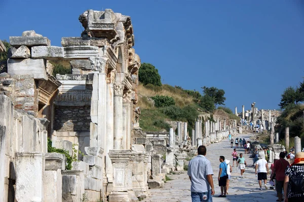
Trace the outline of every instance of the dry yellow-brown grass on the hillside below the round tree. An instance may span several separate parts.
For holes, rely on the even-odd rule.
[[[172,97],[175,101],[175,105],[179,107],[184,107],[186,105],[191,105],[194,103],[191,96],[169,85],[146,88],[142,84],[139,84],[138,94],[138,106],[140,106],[142,109],[150,109],[151,106],[149,105],[149,102],[147,102],[146,97],[153,97],[156,95]]]

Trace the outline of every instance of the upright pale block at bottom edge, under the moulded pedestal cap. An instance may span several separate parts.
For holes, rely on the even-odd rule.
[[[61,170],[45,171],[44,173],[44,201],[62,201]]]

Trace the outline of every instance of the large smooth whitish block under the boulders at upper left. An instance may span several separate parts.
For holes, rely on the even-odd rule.
[[[8,59],[8,73],[11,75],[31,74],[35,79],[48,79],[44,59]]]

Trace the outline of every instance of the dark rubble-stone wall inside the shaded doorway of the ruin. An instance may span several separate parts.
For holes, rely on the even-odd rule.
[[[90,106],[56,106],[56,131],[90,131]]]

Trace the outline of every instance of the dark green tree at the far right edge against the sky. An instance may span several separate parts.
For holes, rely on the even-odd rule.
[[[299,90],[293,87],[288,87],[282,94],[281,102],[279,106],[281,109],[285,109],[287,106],[296,105],[299,101]]]

